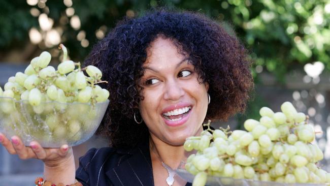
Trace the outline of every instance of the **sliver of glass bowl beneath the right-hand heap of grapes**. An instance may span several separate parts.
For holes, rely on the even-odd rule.
[[[194,175],[190,174],[185,169],[177,169],[175,172],[184,180],[192,183]],[[280,183],[274,181],[258,181],[252,179],[234,179],[231,177],[209,176],[206,185],[208,186],[325,186],[328,184],[316,183]]]

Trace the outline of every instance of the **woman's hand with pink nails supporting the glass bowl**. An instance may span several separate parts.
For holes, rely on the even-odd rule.
[[[9,140],[2,133],[0,133],[0,143],[10,154],[17,154],[22,160],[31,158],[42,160],[48,167],[59,166],[73,155],[72,148],[68,145],[62,145],[60,148],[43,148],[38,142],[32,141],[30,147],[27,147],[18,136],[13,136]]]

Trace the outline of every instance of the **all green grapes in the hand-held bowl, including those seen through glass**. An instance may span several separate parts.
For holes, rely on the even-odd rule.
[[[62,44],[60,48],[64,52],[63,61],[57,70],[48,66],[51,54],[44,51],[31,60],[24,73],[17,72],[10,77],[4,90],[0,87],[3,130],[39,135],[37,140],[49,137],[77,140],[83,136],[81,129],[90,129],[87,123],[98,112],[95,105],[109,98],[109,91],[98,85],[106,81],[101,80],[100,69],[94,66],[81,68],[80,63],[67,60],[67,49]],[[32,128],[28,127],[31,123],[34,123]],[[46,125],[37,126],[40,123]]]

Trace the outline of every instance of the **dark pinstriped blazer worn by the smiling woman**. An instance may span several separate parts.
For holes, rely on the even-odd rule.
[[[154,185],[148,144],[146,141],[129,150],[92,148],[79,159],[76,179],[84,186]]]

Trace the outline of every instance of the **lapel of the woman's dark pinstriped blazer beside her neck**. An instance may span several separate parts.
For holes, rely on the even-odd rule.
[[[118,167],[106,172],[115,186],[154,185],[150,159],[149,142],[138,145]],[[140,184],[137,184],[140,183]]]

